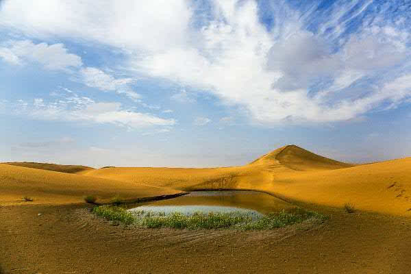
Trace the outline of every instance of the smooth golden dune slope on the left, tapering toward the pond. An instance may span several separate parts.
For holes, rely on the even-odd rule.
[[[29,169],[0,164],[0,204],[84,203],[84,196],[96,195],[106,201],[119,195],[121,199],[171,195],[170,188],[136,185],[110,179],[86,177],[55,171]],[[24,202],[23,197],[34,199]]]

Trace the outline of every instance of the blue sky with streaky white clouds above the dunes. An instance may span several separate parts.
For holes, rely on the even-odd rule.
[[[0,162],[411,156],[411,2],[0,0]]]

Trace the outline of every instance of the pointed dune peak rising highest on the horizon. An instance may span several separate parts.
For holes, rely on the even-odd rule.
[[[344,169],[353,166],[344,162],[338,162],[320,155],[316,155],[306,149],[296,145],[287,145],[275,149],[270,153],[263,155],[251,164],[269,164],[277,162],[289,169],[296,171],[309,171],[315,169]]]

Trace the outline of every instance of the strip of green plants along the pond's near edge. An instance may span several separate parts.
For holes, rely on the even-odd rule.
[[[275,229],[285,227],[295,223],[301,223],[308,219],[323,221],[325,216],[309,212],[306,210],[295,210],[294,212],[279,212],[258,219],[253,219],[250,214],[242,212],[210,212],[204,214],[195,212],[191,215],[185,215],[179,212],[165,214],[164,212],[128,212],[125,208],[119,206],[99,206],[92,210],[98,216],[109,221],[121,222],[125,225],[135,224],[138,227],[159,228],[171,227],[177,229]]]

